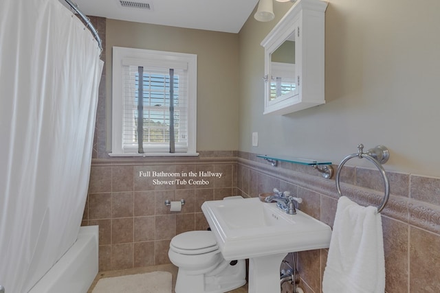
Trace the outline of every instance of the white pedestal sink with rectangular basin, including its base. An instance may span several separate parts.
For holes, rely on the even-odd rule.
[[[331,228],[299,211],[288,215],[259,198],[211,200],[201,206],[226,260],[249,259],[249,293],[280,292],[287,253],[328,248]]]

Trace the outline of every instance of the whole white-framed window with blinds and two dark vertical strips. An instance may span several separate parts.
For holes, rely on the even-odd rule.
[[[111,156],[197,155],[197,56],[113,47]]]

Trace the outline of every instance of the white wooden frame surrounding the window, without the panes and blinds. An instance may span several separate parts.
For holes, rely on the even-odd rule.
[[[186,152],[165,152],[146,150],[143,154],[124,151],[122,143],[123,126],[123,74],[124,62],[135,61],[139,65],[157,65],[172,68],[184,64],[188,68],[188,149]],[[113,47],[113,82],[112,82],[112,118],[111,118],[111,153],[110,156],[197,156],[197,55],[127,47]]]

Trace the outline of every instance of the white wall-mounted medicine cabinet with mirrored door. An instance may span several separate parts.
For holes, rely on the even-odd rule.
[[[327,2],[298,0],[265,37],[263,114],[285,115],[325,104]]]

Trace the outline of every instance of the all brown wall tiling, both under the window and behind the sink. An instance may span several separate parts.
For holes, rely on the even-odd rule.
[[[337,167],[337,166],[333,166]],[[199,174],[221,172],[208,185],[155,185],[146,172]],[[386,292],[440,292],[440,178],[387,172],[391,198],[382,211],[386,257]],[[178,177],[157,177],[169,180]],[[360,204],[382,200],[382,179],[375,169],[344,167],[342,192]],[[311,167],[269,163],[245,152],[202,152],[192,159],[141,161],[94,159],[83,224],[100,226],[100,270],[169,263],[170,239],[204,230],[205,200],[241,194],[255,197],[274,187],[303,198],[300,209],[333,225],[337,192],[333,179]],[[186,203],[170,212],[164,200]],[[292,256],[290,256],[292,257]],[[296,255],[305,292],[321,292],[327,250]],[[283,291],[284,292],[284,291]]]

